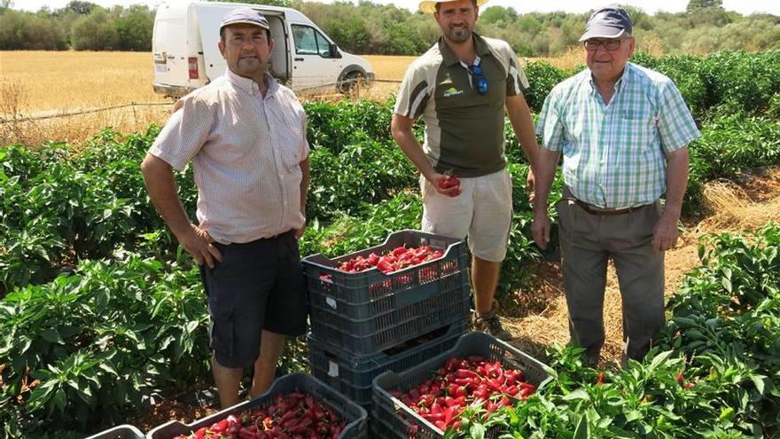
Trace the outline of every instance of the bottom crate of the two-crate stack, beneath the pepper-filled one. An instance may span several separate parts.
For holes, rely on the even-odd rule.
[[[371,404],[372,382],[386,371],[402,372],[455,346],[465,333],[465,322],[442,327],[405,344],[370,356],[353,356],[335,349],[316,337],[308,337],[308,357],[312,374],[363,407]],[[404,349],[405,348],[405,349]]]

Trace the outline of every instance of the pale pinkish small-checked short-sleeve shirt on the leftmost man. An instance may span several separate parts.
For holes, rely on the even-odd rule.
[[[300,162],[306,116],[292,90],[228,69],[183,98],[149,150],[175,169],[189,161],[198,185],[199,226],[223,244],[269,238],[305,223]]]

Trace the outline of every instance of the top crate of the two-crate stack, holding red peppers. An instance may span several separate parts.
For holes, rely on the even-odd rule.
[[[335,267],[358,255],[395,247],[429,246],[442,257],[390,274],[377,269],[347,273]],[[424,231],[396,231],[385,243],[336,259],[303,259],[316,338],[355,355],[392,348],[468,317],[469,256],[462,240]]]

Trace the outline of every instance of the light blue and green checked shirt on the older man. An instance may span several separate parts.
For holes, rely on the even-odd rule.
[[[585,69],[550,91],[536,125],[561,151],[573,196],[599,208],[650,204],[666,191],[665,153],[701,136],[667,76],[628,63],[609,105]]]

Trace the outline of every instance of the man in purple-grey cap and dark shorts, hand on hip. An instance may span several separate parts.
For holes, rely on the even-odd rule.
[[[285,335],[306,330],[297,239],[309,173],[303,107],[268,74],[268,20],[251,8],[228,12],[218,46],[225,74],[182,98],[141,169],[160,216],[200,265],[214,380],[229,407],[238,403],[244,368],[254,368],[249,395],[265,392]],[[190,161],[198,225],[184,212],[172,173]]]

